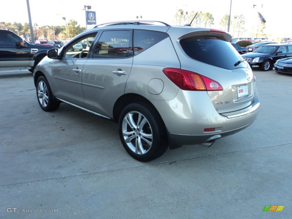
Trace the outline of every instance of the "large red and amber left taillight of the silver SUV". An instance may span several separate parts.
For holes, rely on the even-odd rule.
[[[180,89],[186,91],[222,91],[222,86],[211,78],[179,68],[165,68],[164,74]]]

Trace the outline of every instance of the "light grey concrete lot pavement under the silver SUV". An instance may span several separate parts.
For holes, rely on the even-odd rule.
[[[44,112],[32,73],[0,72],[0,218],[291,218],[292,75],[254,73],[251,126],[141,163],[117,124],[63,103]]]

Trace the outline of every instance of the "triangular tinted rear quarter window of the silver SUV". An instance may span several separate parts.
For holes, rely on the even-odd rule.
[[[164,32],[134,30],[134,55],[139,54],[167,37],[168,35]]]

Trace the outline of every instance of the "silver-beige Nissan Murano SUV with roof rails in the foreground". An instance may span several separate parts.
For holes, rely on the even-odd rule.
[[[164,22],[97,25],[34,70],[40,107],[64,102],[118,123],[139,161],[182,145],[210,146],[253,123],[260,105],[253,72],[230,34]],[[80,41],[87,49],[71,51]]]

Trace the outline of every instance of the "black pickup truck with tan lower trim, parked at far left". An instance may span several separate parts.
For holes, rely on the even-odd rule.
[[[0,70],[28,69],[34,67],[55,46],[29,44],[9,30],[0,29]]]

